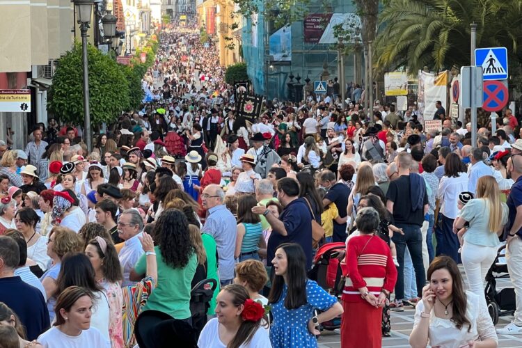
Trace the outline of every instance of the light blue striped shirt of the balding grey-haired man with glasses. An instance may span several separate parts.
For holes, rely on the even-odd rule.
[[[234,278],[234,252],[236,246],[237,222],[226,205],[216,205],[208,209],[207,220],[203,225],[203,233],[216,240],[219,255],[219,279]]]

